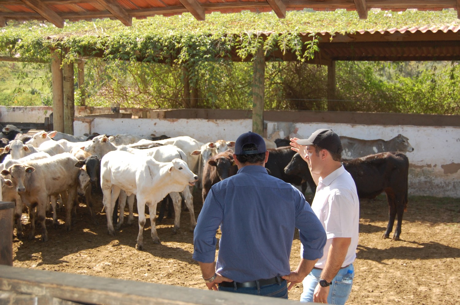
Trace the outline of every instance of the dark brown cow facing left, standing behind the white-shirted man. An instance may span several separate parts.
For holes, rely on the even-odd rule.
[[[409,160],[400,152],[383,152],[362,158],[343,161],[345,169],[356,183],[358,197],[373,199],[385,192],[388,200],[388,225],[383,238],[389,238],[397,215],[396,230],[393,240],[399,240],[403,213],[408,202],[408,171]],[[304,180],[311,179],[310,170],[299,154],[293,157],[285,171],[301,176]]]

